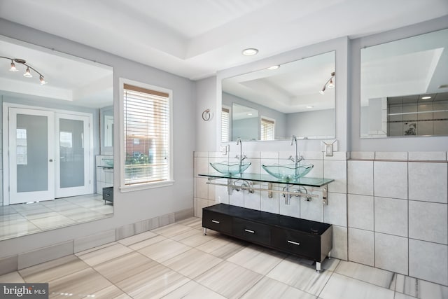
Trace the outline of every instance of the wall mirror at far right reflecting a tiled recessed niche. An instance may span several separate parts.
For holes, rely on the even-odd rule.
[[[360,51],[361,138],[448,135],[448,29]]]

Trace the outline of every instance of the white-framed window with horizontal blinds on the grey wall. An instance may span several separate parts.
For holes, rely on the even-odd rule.
[[[122,188],[172,184],[171,91],[125,81]]]

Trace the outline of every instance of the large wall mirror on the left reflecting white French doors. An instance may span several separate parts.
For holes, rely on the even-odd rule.
[[[0,240],[113,215],[113,68],[6,36],[0,57]]]

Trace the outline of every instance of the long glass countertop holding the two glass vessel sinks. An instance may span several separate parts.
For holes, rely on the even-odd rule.
[[[235,174],[232,176],[220,174],[218,172],[211,174],[198,174],[198,175],[207,176],[209,178],[215,178],[215,179],[244,179],[247,181],[260,181],[267,183],[288,183],[290,185],[301,185],[312,187],[322,187],[327,185],[328,183],[331,183],[332,181],[335,181],[334,179],[309,178],[309,177],[303,177],[297,180],[281,180],[276,179],[274,178],[274,176],[271,176],[269,174],[251,174],[246,172],[243,172],[242,174]]]

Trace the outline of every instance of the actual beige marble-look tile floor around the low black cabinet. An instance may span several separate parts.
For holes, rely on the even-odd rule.
[[[0,276],[49,282],[50,298],[448,298],[448,287],[332,258],[323,272],[188,218]]]

